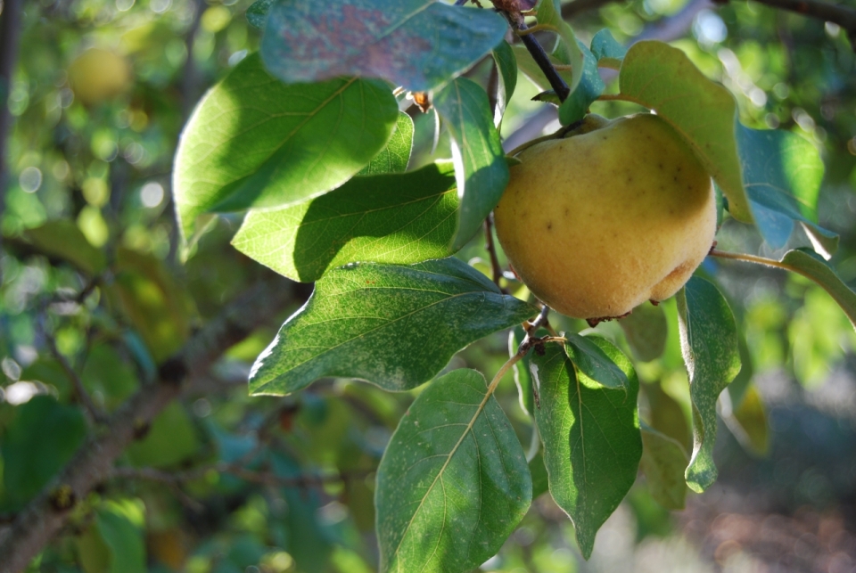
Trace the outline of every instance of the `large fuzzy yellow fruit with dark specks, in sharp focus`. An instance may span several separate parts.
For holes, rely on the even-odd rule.
[[[509,262],[535,296],[576,318],[668,299],[711,249],[711,177],[655,115],[593,119],[578,133],[517,156],[494,212]]]

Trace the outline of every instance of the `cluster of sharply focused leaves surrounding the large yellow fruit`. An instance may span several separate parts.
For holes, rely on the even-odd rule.
[[[837,236],[808,207],[823,175],[811,143],[741,125],[734,97],[678,49],[640,42],[625,50],[607,31],[590,47],[581,44],[559,9],[543,0],[527,33],[556,34],[550,57],[571,89],[557,101],[564,126],[602,97],[598,67],[617,69],[620,92],[606,97],[642,105],[675,127],[718,185],[721,209],[754,222],[774,248],[799,223],[821,254],[835,250]],[[506,21],[488,10],[416,1],[342,0],[311,10],[257,3],[251,14],[264,28],[260,53],[201,102],[175,173],[189,241],[201,214],[249,209],[235,247],[295,281],[316,281],[308,304],[257,359],[251,392],[287,395],[330,376],[414,389],[459,349],[536,315],[537,307],[502,294],[472,267],[440,258],[473,237],[504,190],[496,125],[518,66],[536,84],[546,80],[523,48],[506,44]],[[465,44],[452,40],[462,35]],[[309,41],[317,37],[325,41]],[[501,76],[495,113],[484,89],[458,76],[488,53]],[[451,138],[450,165],[406,171],[413,129],[398,112],[394,86],[432,94]],[[539,98],[557,100],[549,91]],[[791,250],[772,262],[818,282],[856,324],[856,295],[822,258]],[[612,344],[569,334],[564,348],[549,345],[528,361],[531,383],[522,391],[541,396],[531,413],[549,490],[586,557],[635,481],[644,441],[649,479],[664,490],[671,484],[665,496],[682,499],[683,479],[699,492],[716,479],[716,402],[740,372],[737,327],[702,278],[680,291],[678,308],[693,410],[683,478],[674,475],[681,449],[640,429],[637,376]],[[382,570],[471,569],[523,517],[531,472],[492,396],[497,383],[449,372],[399,423],[378,470]]]

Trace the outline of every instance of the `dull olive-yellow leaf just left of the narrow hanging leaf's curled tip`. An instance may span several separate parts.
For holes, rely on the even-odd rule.
[[[642,460],[648,491],[667,510],[682,510],[687,498],[687,452],[673,438],[642,424]]]

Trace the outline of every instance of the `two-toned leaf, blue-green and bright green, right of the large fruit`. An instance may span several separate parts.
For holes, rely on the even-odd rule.
[[[794,221],[805,225],[821,254],[835,251],[838,235],[817,225],[823,161],[799,135],[737,124],[737,151],[755,224],[774,249],[785,246]]]

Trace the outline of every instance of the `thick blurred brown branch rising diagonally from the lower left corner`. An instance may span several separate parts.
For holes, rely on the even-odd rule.
[[[62,473],[0,536],[0,573],[19,573],[62,528],[75,503],[112,475],[113,462],[185,386],[260,323],[284,309],[295,292],[283,279],[261,282],[226,307],[176,355],[161,364],[159,381],[144,386],[90,436]]]

